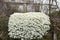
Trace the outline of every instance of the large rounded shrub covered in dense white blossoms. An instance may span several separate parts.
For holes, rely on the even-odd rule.
[[[9,18],[8,35],[12,38],[42,38],[50,29],[49,25],[49,16],[44,13],[14,13]]]

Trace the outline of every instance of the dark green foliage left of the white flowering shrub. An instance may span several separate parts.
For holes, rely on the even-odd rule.
[[[0,39],[7,40],[8,37],[8,16],[0,15]]]

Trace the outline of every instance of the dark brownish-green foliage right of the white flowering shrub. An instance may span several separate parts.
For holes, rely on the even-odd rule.
[[[60,11],[50,14],[51,30],[57,34],[57,40],[60,40]]]

